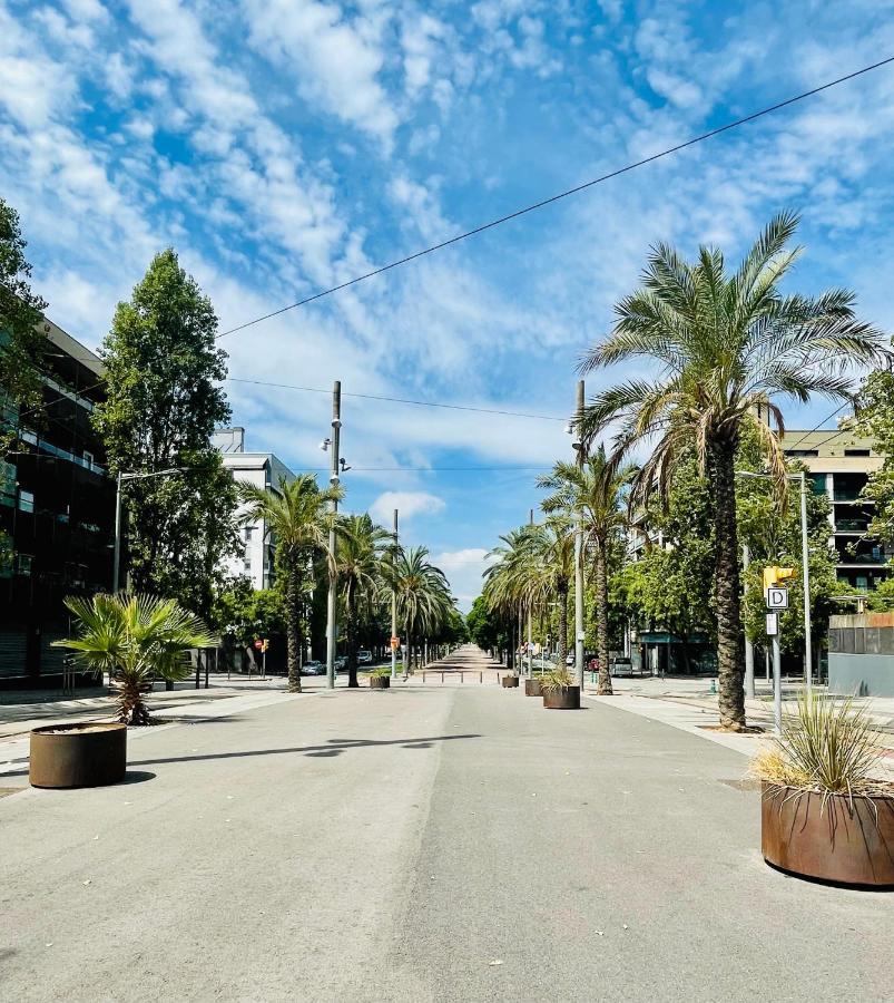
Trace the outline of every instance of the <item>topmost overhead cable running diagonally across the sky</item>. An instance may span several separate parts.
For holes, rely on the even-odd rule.
[[[271,320],[271,318],[278,317],[281,313],[286,313],[287,311],[295,310],[298,306],[305,306],[307,303],[313,303],[315,300],[322,300],[324,296],[332,295],[333,293],[340,292],[343,289],[348,289],[352,285],[356,285],[358,282],[365,282],[367,279],[372,279],[375,275],[381,275],[384,272],[390,272],[392,269],[400,267],[400,265],[404,265],[411,261],[415,261],[417,257],[424,257],[426,254],[433,254],[435,251],[441,251],[444,247],[451,246],[452,244],[458,244],[460,241],[468,240],[469,237],[475,236],[479,233],[484,233],[484,231],[487,230],[493,230],[495,226],[501,226],[503,223],[509,223],[511,220],[518,220],[519,216],[524,216],[528,213],[534,212],[536,210],[552,205],[554,202],[560,202],[562,198],[568,198],[571,195],[577,195],[579,192],[584,192],[587,191],[587,188],[592,188],[595,185],[600,185],[613,177],[619,177],[620,175],[627,174],[630,171],[636,171],[638,167],[645,167],[647,164],[652,164],[656,160],[662,159],[664,157],[669,157],[671,154],[679,153],[681,149],[686,149],[689,146],[695,146],[697,143],[704,143],[706,139],[711,139],[715,136],[719,136],[721,133],[728,133],[730,129],[736,129],[739,126],[747,125],[750,121],[763,118],[765,115],[770,115],[772,113],[778,111],[782,108],[787,108],[789,105],[795,105],[798,101],[803,101],[806,98],[813,97],[814,95],[822,94],[824,90],[828,90],[832,87],[837,87],[839,84],[845,84],[848,80],[853,80],[856,77],[863,76],[864,74],[872,72],[872,70],[880,69],[883,66],[887,66],[890,62],[894,62],[894,56],[888,56],[885,59],[880,59],[877,62],[873,62],[870,66],[864,66],[851,74],[845,74],[843,77],[836,77],[834,80],[828,80],[825,84],[821,84],[818,87],[812,87],[809,90],[796,94],[793,97],[786,98],[783,101],[777,101],[775,105],[769,105],[766,108],[760,108],[757,111],[753,111],[750,115],[745,115],[741,118],[736,118],[733,121],[728,121],[715,129],[709,129],[707,133],[701,133],[698,136],[692,136],[690,139],[686,139],[682,143],[677,143],[675,146],[669,146],[666,149],[651,154],[648,157],[642,157],[639,160],[635,160],[632,164],[626,164],[623,167],[618,167],[615,171],[609,171],[607,174],[602,174],[599,177],[595,177],[591,181],[584,182],[583,184],[574,185],[573,188],[567,188],[564,192],[559,192],[557,195],[550,195],[548,198],[540,199],[540,202],[534,202],[531,205],[525,205],[522,208],[514,210],[511,213],[507,213],[504,216],[499,216],[495,220],[491,220],[489,223],[482,223],[480,226],[474,226],[472,230],[466,230],[464,233],[459,233],[455,236],[449,237],[445,241],[441,241],[438,244],[432,244],[429,247],[423,247],[421,251],[415,251],[413,254],[407,254],[404,257],[392,261],[386,265],[382,265],[381,267],[373,269],[372,271],[365,272],[362,275],[356,275],[353,279],[348,279],[346,282],[340,282],[337,285],[332,285],[328,289],[323,289],[320,292],[313,293],[313,295],[305,296],[303,300],[298,300],[295,303],[289,303],[287,306],[281,306],[278,310],[273,310],[269,313],[265,313],[263,317],[257,317],[254,320],[246,321],[243,324],[237,324],[235,328],[229,328],[228,330],[223,331],[217,337],[226,338],[227,334],[235,334],[237,331],[244,331],[246,328],[252,328],[255,324],[259,324],[262,321]]]

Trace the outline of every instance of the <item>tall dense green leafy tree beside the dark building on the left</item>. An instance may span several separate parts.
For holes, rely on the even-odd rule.
[[[94,411],[112,474],[180,468],[125,483],[130,581],[206,619],[222,562],[239,549],[236,486],[210,444],[229,419],[216,332],[210,301],[174,251],[156,255],[115,312],[100,351],[106,400]]]

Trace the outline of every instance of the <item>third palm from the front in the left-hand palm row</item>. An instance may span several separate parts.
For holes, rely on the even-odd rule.
[[[440,567],[429,562],[426,547],[399,547],[393,559],[383,563],[383,594],[396,594],[397,616],[406,633],[406,664],[410,669],[413,643],[420,634],[435,631],[453,610],[453,598],[446,577]]]

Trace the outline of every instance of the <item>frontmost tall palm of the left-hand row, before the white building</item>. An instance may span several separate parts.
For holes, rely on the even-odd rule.
[[[341,487],[321,489],[314,474],[299,474],[293,481],[279,478],[277,491],[244,483],[242,496],[253,519],[263,519],[276,547],[276,572],[285,597],[288,689],[301,693],[301,610],[307,569],[322,554],[332,572],[330,529],[336,516],[330,503],[344,497]]]

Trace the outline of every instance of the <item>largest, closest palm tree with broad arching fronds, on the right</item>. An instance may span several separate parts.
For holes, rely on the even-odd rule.
[[[690,264],[659,244],[642,286],[616,306],[611,334],[581,364],[589,371],[642,358],[659,368],[654,379],[599,392],[583,413],[589,441],[620,422],[615,461],[637,444],[655,441],[637,480],[639,497],[666,496],[676,460],[695,447],[715,510],[720,723],[737,731],[745,728],[735,485],[743,429],[756,429],[783,499],[783,451],[762,420],[773,418],[783,431],[774,398],[806,401],[818,392],[849,400],[847,370],[888,356],[881,332],[855,319],[853,293],[834,289],[812,298],[779,291],[800,253],[788,247],[797,223],[793,213],[772,220],[734,274],[716,249],[700,247]]]

